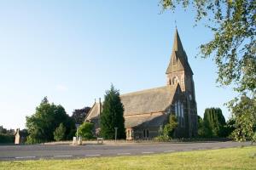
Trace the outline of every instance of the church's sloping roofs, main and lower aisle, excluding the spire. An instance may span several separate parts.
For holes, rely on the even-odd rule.
[[[178,85],[169,85],[160,88],[151,88],[130,94],[120,95],[121,102],[124,105],[124,116],[136,116],[146,113],[155,113],[166,111],[169,105],[172,105],[172,99]],[[90,109],[85,120],[98,118],[100,115],[100,103],[95,103]],[[151,122],[153,124],[160,121],[154,119],[157,116],[140,116],[137,118],[125,118],[125,127],[133,127],[143,122]]]

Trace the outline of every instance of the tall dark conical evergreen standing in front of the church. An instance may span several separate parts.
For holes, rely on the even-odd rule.
[[[119,97],[119,91],[111,85],[105,94],[101,114],[101,133],[105,139],[114,139],[114,127],[118,127],[117,138],[125,139],[124,106]]]

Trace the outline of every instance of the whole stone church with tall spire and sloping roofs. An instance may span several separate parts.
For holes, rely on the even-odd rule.
[[[153,139],[168,122],[170,114],[177,116],[177,138],[195,137],[197,109],[193,71],[182,42],[175,31],[171,60],[166,70],[166,86],[120,95],[124,105],[126,139]],[[85,121],[99,128],[101,100],[92,106]]]

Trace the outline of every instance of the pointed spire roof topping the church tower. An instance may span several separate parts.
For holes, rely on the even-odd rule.
[[[177,64],[175,65],[174,62]],[[177,29],[174,35],[171,60],[167,67],[166,74],[174,71],[189,71],[193,74],[193,71],[188,62],[188,56],[183,49],[183,44],[180,40]]]

